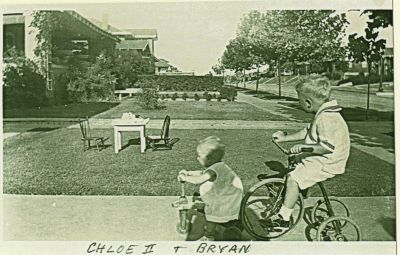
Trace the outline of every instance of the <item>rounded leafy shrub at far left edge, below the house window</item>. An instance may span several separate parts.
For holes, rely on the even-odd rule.
[[[46,79],[31,60],[11,53],[3,69],[4,107],[22,108],[46,105]]]

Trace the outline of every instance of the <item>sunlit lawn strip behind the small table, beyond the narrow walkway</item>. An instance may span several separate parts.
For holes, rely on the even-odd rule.
[[[120,105],[104,112],[97,118],[120,118],[124,112],[132,112],[146,118],[163,119],[169,114],[172,119],[214,120],[282,120],[281,116],[267,113],[252,105],[241,102],[217,101],[164,101],[162,110],[144,110],[134,99],[124,100]]]

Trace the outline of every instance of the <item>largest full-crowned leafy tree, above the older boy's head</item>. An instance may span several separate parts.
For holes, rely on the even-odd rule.
[[[267,11],[249,33],[251,45],[258,45],[263,60],[274,62],[280,73],[286,62],[322,62],[344,57],[341,39],[347,21],[334,11]]]

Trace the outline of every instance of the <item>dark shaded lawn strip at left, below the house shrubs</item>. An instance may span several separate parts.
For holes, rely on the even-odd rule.
[[[76,103],[29,109],[4,109],[3,118],[80,118],[107,111],[119,103]]]

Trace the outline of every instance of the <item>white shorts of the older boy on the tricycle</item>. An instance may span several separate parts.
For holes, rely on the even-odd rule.
[[[306,189],[317,182],[334,177],[334,174],[322,171],[323,164],[313,158],[305,158],[290,172],[290,176],[297,182],[300,189]]]

